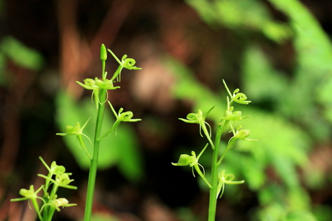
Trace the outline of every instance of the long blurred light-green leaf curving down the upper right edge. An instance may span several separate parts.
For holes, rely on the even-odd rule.
[[[331,135],[321,115],[319,101],[325,107],[325,116],[330,118],[332,98],[332,44],[317,19],[297,0],[270,0],[290,19],[295,31],[294,45],[297,55],[297,68],[288,94],[279,108],[283,113],[297,119],[318,140],[326,140]],[[322,99],[323,98],[323,99]]]

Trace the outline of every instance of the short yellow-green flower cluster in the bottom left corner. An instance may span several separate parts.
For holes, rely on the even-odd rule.
[[[48,175],[37,174],[39,177],[45,179],[45,184],[40,186],[35,190],[34,185],[30,185],[29,189],[21,189],[19,194],[23,198],[16,198],[10,200],[11,202],[17,202],[22,200],[28,200],[29,206],[30,202],[33,204],[35,211],[37,212],[38,218],[41,221],[52,220],[55,211],[60,211],[62,207],[75,206],[76,204],[70,204],[66,198],[58,198],[57,191],[59,187],[66,189],[77,189],[76,186],[72,186],[70,183],[71,173],[66,173],[66,168],[64,166],[57,165],[55,161],[48,166],[42,157],[39,157],[42,164],[48,170]],[[39,192],[43,193],[43,196],[39,196]]]

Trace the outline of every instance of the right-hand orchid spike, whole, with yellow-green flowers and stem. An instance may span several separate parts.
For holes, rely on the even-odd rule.
[[[225,170],[220,169],[220,164],[223,161],[225,155],[230,151],[234,146],[237,140],[245,141],[257,141],[249,139],[250,131],[248,129],[243,129],[241,126],[238,126],[237,129],[234,127],[234,122],[240,122],[242,119],[247,117],[242,117],[241,111],[234,111],[234,103],[237,104],[250,104],[247,96],[244,93],[240,93],[239,89],[234,90],[233,93],[230,93],[228,86],[225,81],[223,81],[225,89],[227,90],[227,107],[225,113],[216,124],[216,135],[214,137],[214,142],[212,141],[212,129],[210,124],[206,122],[206,117],[208,113],[212,111],[212,108],[205,114],[203,111],[199,110],[197,113],[189,113],[186,119],[179,118],[183,122],[190,124],[199,124],[199,133],[201,137],[206,137],[208,144],[206,144],[199,155],[196,156],[195,151],[192,151],[191,155],[181,154],[178,162],[172,163],[174,166],[190,166],[192,167],[192,173],[194,175],[194,170],[199,176],[203,179],[205,184],[207,184],[210,189],[210,205],[209,205],[209,221],[214,220],[215,211],[216,211],[216,199],[221,198],[223,195],[225,184],[243,184],[244,180],[235,181],[235,177],[232,173],[226,173]],[[230,133],[232,137],[228,140],[228,144],[223,151],[219,151],[219,144],[221,142],[221,135],[223,131],[227,128],[230,128]],[[211,177],[208,179],[205,177],[205,169],[201,164],[199,164],[199,158],[204,153],[205,149],[211,146],[213,155],[212,155],[212,168],[211,168]],[[194,175],[195,176],[195,175]]]

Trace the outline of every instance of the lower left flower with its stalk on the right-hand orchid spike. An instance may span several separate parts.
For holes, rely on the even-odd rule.
[[[206,180],[205,178],[205,171],[204,171],[204,167],[199,164],[199,157],[201,157],[201,155],[203,154],[203,152],[205,151],[205,149],[208,147],[209,144],[206,144],[203,148],[203,150],[201,151],[201,153],[199,153],[199,155],[196,157],[196,153],[194,151],[192,151],[192,155],[187,155],[187,154],[181,154],[180,158],[178,159],[177,163],[172,163],[173,166],[190,166],[192,167],[192,175],[195,176],[194,173],[194,169],[196,170],[197,173],[199,173],[199,175],[202,177],[202,179],[204,180],[204,182],[206,184],[208,184],[209,188],[212,188],[210,182],[208,182],[208,180]],[[203,173],[201,171],[201,169],[199,168],[201,166],[201,168],[203,169]]]

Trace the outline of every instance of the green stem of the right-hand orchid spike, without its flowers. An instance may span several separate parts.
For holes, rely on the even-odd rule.
[[[212,170],[211,170],[211,185],[210,189],[210,200],[209,200],[209,213],[208,221],[214,221],[216,218],[216,200],[218,198],[218,156],[219,156],[219,144],[221,140],[221,135],[228,125],[228,121],[224,119],[219,123],[219,126],[216,129],[216,140],[214,141],[214,149],[212,155]]]

